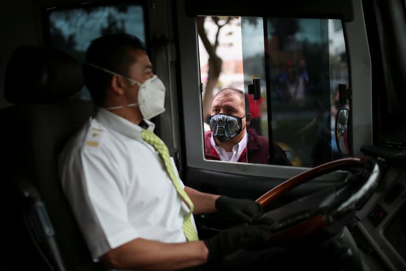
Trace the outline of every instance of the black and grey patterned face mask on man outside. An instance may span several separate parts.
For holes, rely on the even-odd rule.
[[[210,116],[210,130],[220,142],[225,142],[243,130],[243,117],[227,114],[217,114]]]

